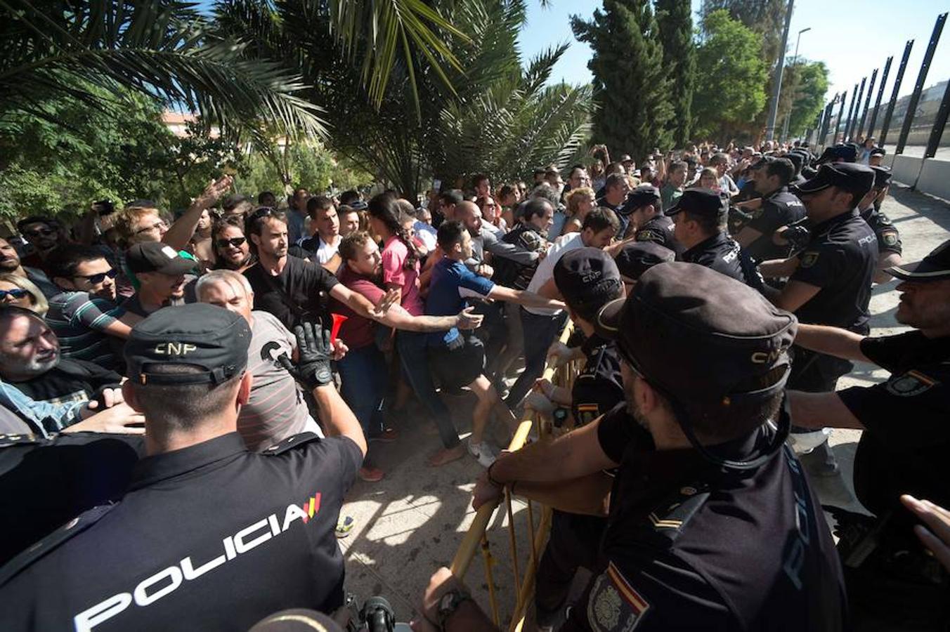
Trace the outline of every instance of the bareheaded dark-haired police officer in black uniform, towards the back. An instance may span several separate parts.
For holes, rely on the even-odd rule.
[[[788,183],[795,177],[795,167],[788,158],[769,160],[752,172],[755,190],[762,195],[758,208],[750,208],[749,222],[735,233],[735,241],[756,261],[784,259],[790,254],[788,244],[774,240],[775,231],[805,216],[802,200],[788,193]]]

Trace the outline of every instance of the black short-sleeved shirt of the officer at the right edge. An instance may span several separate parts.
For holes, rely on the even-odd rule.
[[[864,507],[916,522],[900,504],[902,493],[950,506],[950,337],[920,331],[865,338],[861,351],[890,371],[874,386],[852,386],[838,396],[867,429],[854,459],[854,489]]]

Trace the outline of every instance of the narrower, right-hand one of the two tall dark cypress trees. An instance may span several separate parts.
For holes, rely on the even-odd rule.
[[[693,90],[696,84],[696,46],[690,0],[656,0],[656,24],[663,45],[663,63],[669,73],[675,112],[670,128],[677,147],[684,147],[693,131]]]

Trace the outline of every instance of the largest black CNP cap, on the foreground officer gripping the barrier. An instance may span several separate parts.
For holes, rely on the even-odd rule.
[[[770,397],[788,376],[798,321],[715,270],[663,263],[599,313],[623,356],[668,397],[728,405]]]

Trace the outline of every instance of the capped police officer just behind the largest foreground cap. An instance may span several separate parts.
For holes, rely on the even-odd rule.
[[[673,217],[680,259],[711,268],[733,279],[757,286],[754,270],[744,266],[739,245],[726,233],[729,201],[709,189],[687,189],[666,212]]]

